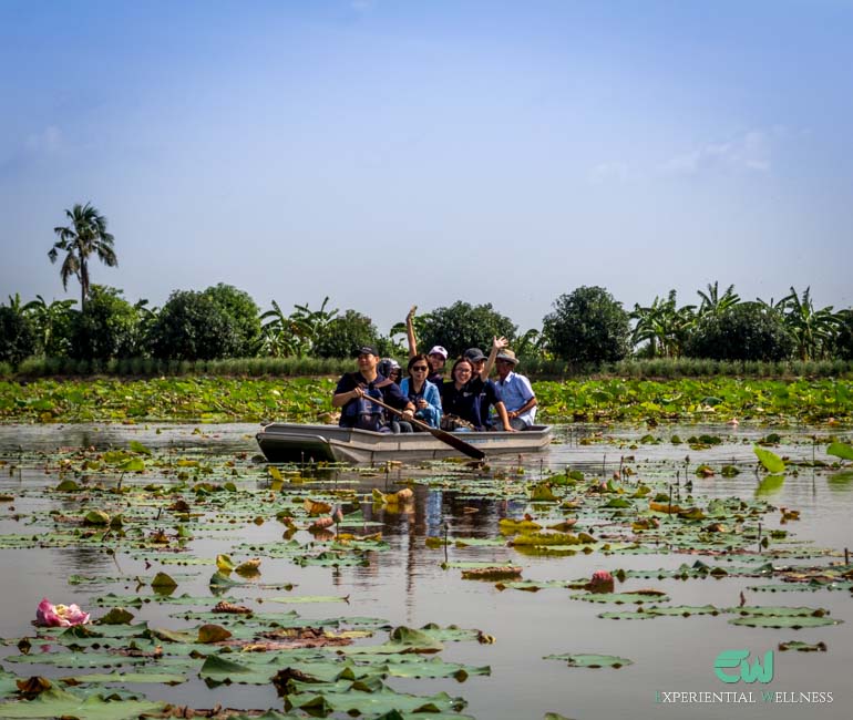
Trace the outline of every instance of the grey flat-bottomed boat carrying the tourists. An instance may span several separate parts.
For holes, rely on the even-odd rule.
[[[523,432],[461,432],[460,440],[486,455],[531,453],[551,442],[551,425],[532,425]],[[381,433],[339,425],[273,422],[255,435],[270,462],[350,462],[432,460],[460,455],[460,451],[426,432]]]

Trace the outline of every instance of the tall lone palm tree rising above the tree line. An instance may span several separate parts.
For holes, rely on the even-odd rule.
[[[107,267],[116,267],[119,260],[113,250],[115,239],[106,232],[106,218],[92,205],[75,204],[65,216],[71,220],[68,227],[54,227],[59,237],[48,253],[51,263],[56,261],[59,251],[68,253],[60,268],[62,287],[68,290],[68,279],[74,275],[80,280],[80,308],[85,308],[89,297],[89,256],[96,255]]]

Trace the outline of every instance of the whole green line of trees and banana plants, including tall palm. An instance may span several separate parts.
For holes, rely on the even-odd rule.
[[[33,356],[107,361],[152,358],[168,361],[224,358],[343,358],[374,344],[383,356],[404,356],[402,322],[381,333],[358,310],[341,312],[326,297],[317,309],[295,305],[286,312],[273,300],[261,312],[244,290],[219,284],[205,290],[175,290],[163,307],[134,304],[123,291],[91,282],[90,260],[117,266],[115,238],[91,204],[65,210],[68,225],[48,253],[61,254],[60,279],[81,287],[75,300],[0,305],[0,362],[12,368]],[[815,308],[811,289],[793,287],[781,300],[742,300],[713,282],[697,302],[680,305],[676,290],[648,306],[626,310],[600,287],[561,295],[541,328],[520,332],[491,304],[458,301],[413,318],[419,348],[444,346],[451,357],[466,348],[487,349],[493,336],[510,339],[526,359],[556,360],[592,368],[637,358],[698,358],[720,361],[853,360],[853,309]]]

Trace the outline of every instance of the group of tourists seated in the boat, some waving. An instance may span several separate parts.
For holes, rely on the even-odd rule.
[[[409,362],[381,359],[373,346],[358,349],[358,371],[341,376],[331,404],[341,409],[340,425],[376,432],[527,430],[536,416],[536,395],[530,380],[515,372],[518,359],[506,338],[494,338],[486,357],[469,348],[453,361],[450,379],[443,371],[442,346],[418,352],[412,318],[407,317]],[[496,380],[490,379],[497,369]],[[397,411],[397,412],[393,412]]]

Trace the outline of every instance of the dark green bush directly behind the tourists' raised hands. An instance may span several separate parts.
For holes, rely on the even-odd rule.
[[[448,349],[451,358],[462,354],[467,348],[481,348],[487,352],[493,338],[505,337],[512,341],[516,331],[513,321],[492,308],[491,302],[471,306],[459,300],[450,307],[436,308],[423,318],[418,350],[428,352],[440,344]]]

